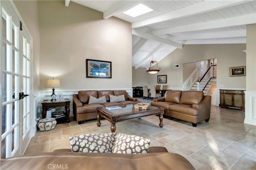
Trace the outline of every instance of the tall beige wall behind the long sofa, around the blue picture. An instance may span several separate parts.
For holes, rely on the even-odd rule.
[[[70,2],[39,1],[40,90],[60,79],[58,90],[132,87],[131,24]],[[86,78],[86,59],[112,61],[112,79]]]

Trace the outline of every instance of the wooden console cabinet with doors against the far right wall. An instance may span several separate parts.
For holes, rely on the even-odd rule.
[[[244,111],[244,90],[221,90],[220,107],[235,107]]]

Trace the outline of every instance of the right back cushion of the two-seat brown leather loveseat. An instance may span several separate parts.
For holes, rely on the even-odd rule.
[[[202,91],[182,91],[180,104],[194,105],[198,104],[204,98]]]

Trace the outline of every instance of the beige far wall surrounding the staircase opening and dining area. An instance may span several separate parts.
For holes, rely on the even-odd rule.
[[[217,58],[217,88],[245,89],[246,76],[230,77],[229,67],[246,65],[246,44],[205,44],[205,45],[183,45],[182,49],[176,49],[167,57],[162,59],[158,66],[161,67],[159,73],[155,75],[147,74],[147,84],[156,85],[157,75],[167,75],[168,87],[182,88],[183,83],[183,63],[202,61]],[[174,64],[180,64],[180,68],[173,69]],[[140,69],[133,71],[138,77],[144,75],[145,69],[141,73]],[[133,82],[140,84],[140,82]]]

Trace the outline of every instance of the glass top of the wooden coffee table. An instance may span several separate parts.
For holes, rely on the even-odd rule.
[[[114,110],[108,110],[105,107],[99,108],[100,110],[104,111],[105,113],[108,113],[108,115],[117,116],[117,115],[129,115],[134,113],[143,113],[148,112],[149,110],[158,110],[158,107],[149,106],[148,109],[135,109],[134,105],[121,105],[119,107],[122,107],[122,109],[114,109]]]

